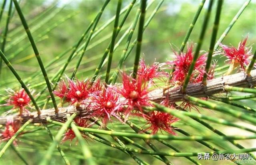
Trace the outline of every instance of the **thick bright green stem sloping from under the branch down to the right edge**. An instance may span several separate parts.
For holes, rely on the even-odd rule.
[[[202,100],[202,99],[199,99],[199,98],[196,98],[196,97],[193,97],[193,96],[184,96],[184,97],[185,97],[185,99],[192,101],[196,105],[200,105],[200,106],[203,106],[205,108],[210,108],[210,109],[213,109],[213,110],[217,110],[217,111],[229,114],[231,116],[234,116],[236,118],[247,120],[248,122],[256,124],[255,118],[252,118],[252,117],[246,115],[243,112],[237,112],[235,110],[232,110],[229,107],[220,106],[220,105],[214,104],[212,102]]]

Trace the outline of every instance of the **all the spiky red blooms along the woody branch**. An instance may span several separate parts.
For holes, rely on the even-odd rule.
[[[251,48],[245,47],[246,39],[240,42],[238,48],[228,47],[221,45],[231,63],[244,69],[244,65],[248,65],[249,56],[251,55]],[[175,65],[175,71],[170,83],[174,86],[180,86],[184,83],[184,79],[188,73],[188,69],[192,63],[194,53],[192,51],[193,46],[187,48],[186,53],[176,53],[173,61],[168,61],[166,64],[171,68]],[[200,83],[204,75],[204,68],[206,65],[206,54],[201,55],[196,63],[195,68],[190,78],[190,83]],[[211,66],[210,73],[208,73],[208,80],[214,78],[214,67]],[[74,106],[84,106],[88,110],[88,115],[83,118],[77,117],[74,122],[77,126],[90,127],[94,122],[90,122],[89,118],[100,120],[102,127],[106,127],[112,117],[117,118],[122,122],[126,122],[129,115],[138,116],[144,118],[149,125],[146,130],[151,130],[152,134],[156,134],[159,130],[162,132],[168,132],[175,134],[171,126],[176,122],[178,118],[174,116],[158,111],[146,112],[143,110],[143,106],[152,106],[150,104],[150,87],[156,85],[154,79],[166,78],[168,73],[161,70],[162,64],[153,63],[151,66],[145,64],[144,60],[140,61],[140,67],[138,69],[136,79],[131,75],[122,73],[122,85],[108,85],[105,86],[98,79],[92,83],[86,81],[73,81],[67,79],[67,81],[61,81],[58,84],[58,90],[54,91],[54,94],[62,98],[64,103],[69,103]],[[12,95],[7,100],[6,105],[13,106],[14,109],[19,109],[20,115],[23,111],[27,111],[26,107],[29,106],[30,98],[24,91],[24,89],[17,92],[12,92]],[[161,103],[164,106],[169,106],[168,100],[163,100]],[[191,108],[190,104],[184,102],[181,106],[184,108]],[[15,122],[7,122],[5,130],[2,132],[2,140],[9,139],[18,130],[19,124]],[[86,135],[82,134],[85,138]],[[64,134],[62,141],[74,139],[76,136],[72,129],[68,129]]]

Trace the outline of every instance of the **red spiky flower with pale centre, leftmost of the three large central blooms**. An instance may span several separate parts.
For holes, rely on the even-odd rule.
[[[79,81],[76,82],[68,79],[69,90],[66,97],[71,100],[71,104],[82,103],[83,100],[89,96],[89,81]]]

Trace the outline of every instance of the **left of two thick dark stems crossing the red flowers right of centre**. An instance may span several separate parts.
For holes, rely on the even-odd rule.
[[[200,49],[201,49],[202,43],[204,41],[204,34],[205,34],[205,31],[206,31],[208,22],[210,20],[209,18],[210,18],[210,14],[211,14],[211,11],[212,11],[212,4],[213,4],[213,0],[210,0],[209,5],[208,5],[207,13],[206,13],[206,15],[204,17],[204,23],[203,23],[203,26],[202,26],[202,30],[201,30],[201,33],[200,33],[199,40],[198,40],[198,45],[196,46],[196,52],[194,54],[192,63],[190,64],[190,67],[188,69],[188,73],[186,75],[184,84],[182,86],[182,92],[186,92],[186,88],[188,86],[190,77],[191,77],[192,72],[194,70],[194,67],[195,67],[195,64],[196,64],[196,60],[198,59],[198,56],[199,56],[199,53],[200,53]]]

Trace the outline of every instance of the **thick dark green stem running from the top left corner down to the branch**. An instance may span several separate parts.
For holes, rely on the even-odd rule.
[[[42,59],[41,59],[41,57],[40,57],[40,55],[39,55],[39,52],[38,52],[38,49],[37,49],[37,47],[36,47],[36,43],[34,42],[34,39],[33,39],[33,37],[32,37],[32,34],[31,34],[31,32],[30,32],[30,30],[29,30],[29,28],[28,28],[28,24],[26,23],[26,20],[25,20],[23,14],[22,14],[22,11],[21,11],[21,9],[20,9],[20,6],[19,6],[17,0],[13,0],[13,2],[14,2],[14,5],[15,5],[16,10],[17,10],[17,12],[18,12],[18,15],[20,16],[20,20],[21,20],[21,22],[22,22],[22,24],[23,24],[23,26],[24,26],[24,29],[26,30],[26,33],[27,33],[27,35],[28,35],[28,39],[29,39],[29,41],[30,41],[30,43],[31,43],[31,46],[32,46],[33,50],[34,50],[34,53],[35,53],[35,55],[36,55],[36,59],[37,59],[37,61],[38,61],[38,64],[39,64],[39,66],[40,66],[40,68],[41,68],[42,74],[44,75],[44,80],[45,80],[46,85],[47,85],[47,87],[48,87],[48,91],[49,91],[49,93],[50,93],[50,96],[51,96],[51,98],[52,98],[52,104],[53,104],[53,106],[54,106],[55,112],[58,113],[58,106],[57,106],[57,104],[56,104],[56,101],[55,101],[55,98],[54,98],[54,94],[52,93],[52,87],[51,87],[49,78],[48,78],[48,76],[47,76],[46,70],[45,70],[45,68],[44,68],[44,64],[43,64],[43,62],[42,62]]]

